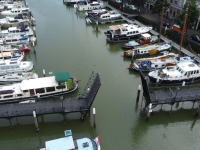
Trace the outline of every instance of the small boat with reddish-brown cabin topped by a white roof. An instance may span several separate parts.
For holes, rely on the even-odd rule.
[[[156,35],[151,36],[151,34],[146,33],[146,34],[141,34],[140,39],[123,43],[122,47],[130,49],[130,48],[134,48],[135,46],[144,45],[144,44],[153,44],[156,42],[158,42],[158,36]]]

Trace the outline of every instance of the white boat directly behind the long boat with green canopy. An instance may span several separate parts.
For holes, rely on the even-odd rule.
[[[0,76],[0,84],[13,84],[22,82],[22,80],[36,79],[38,75],[33,72],[13,73]]]

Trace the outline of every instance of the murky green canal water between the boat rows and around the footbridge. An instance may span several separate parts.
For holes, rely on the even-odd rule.
[[[100,73],[102,85],[95,98],[96,130],[89,116],[84,122],[80,114],[67,115],[66,123],[60,114],[39,117],[40,130],[35,130],[33,117],[0,119],[0,150],[28,150],[44,146],[45,141],[64,136],[71,129],[74,138],[94,138],[99,135],[103,150],[169,150],[199,149],[200,121],[194,118],[192,103],[173,107],[156,107],[150,121],[136,104],[139,73],[127,68],[130,59],[122,58],[121,43],[106,42],[107,25],[87,25],[84,12],[76,13],[62,0],[27,0],[36,19],[37,45],[27,53],[34,61],[35,72],[68,71],[80,81],[82,92],[92,71]],[[197,104],[195,104],[195,107]]]

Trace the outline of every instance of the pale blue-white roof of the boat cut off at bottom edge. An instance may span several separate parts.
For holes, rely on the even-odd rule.
[[[45,142],[46,150],[71,150],[74,149],[74,141],[72,136],[55,139]]]

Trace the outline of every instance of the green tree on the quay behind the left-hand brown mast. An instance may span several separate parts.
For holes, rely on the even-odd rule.
[[[170,5],[171,4],[167,0],[156,0],[156,2],[154,3],[154,6],[151,9],[152,14],[158,14],[158,16],[160,18],[163,7],[165,8],[164,9],[164,13],[165,13]],[[159,18],[158,18],[158,20],[159,20]]]

